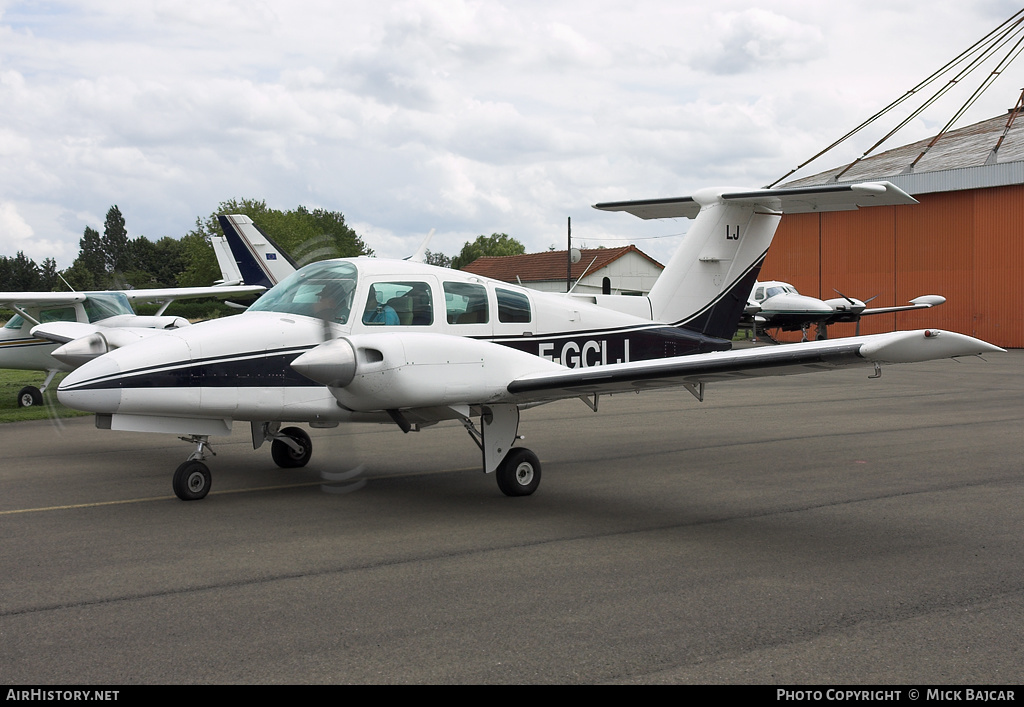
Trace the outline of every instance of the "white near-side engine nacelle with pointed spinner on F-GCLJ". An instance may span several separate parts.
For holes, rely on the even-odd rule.
[[[508,397],[515,378],[560,369],[489,341],[409,332],[326,341],[298,357],[292,368],[359,412],[494,403]]]

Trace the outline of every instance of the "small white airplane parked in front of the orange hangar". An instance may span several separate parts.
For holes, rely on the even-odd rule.
[[[803,340],[807,340],[807,332],[811,326],[817,328],[815,338],[828,338],[828,325],[839,322],[855,322],[856,335],[860,335],[860,318],[871,315],[885,315],[894,311],[910,311],[927,309],[946,301],[942,295],[922,295],[910,300],[909,304],[897,306],[868,307],[871,297],[860,300],[847,297],[837,291],[839,297],[818,299],[800,294],[790,283],[772,280],[754,283],[750,300],[744,310],[743,324],[754,327],[754,337],[766,329],[781,329],[782,331],[802,331]]]

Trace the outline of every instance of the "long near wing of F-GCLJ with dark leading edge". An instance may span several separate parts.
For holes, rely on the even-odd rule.
[[[844,366],[913,363],[1002,351],[965,334],[921,329],[742,350],[534,373],[508,385],[517,402],[646,390]]]

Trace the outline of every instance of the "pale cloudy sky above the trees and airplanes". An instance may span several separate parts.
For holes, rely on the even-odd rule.
[[[685,221],[590,205],[773,181],[1019,9],[0,0],[0,254],[66,267],[112,204],[156,240],[255,198],[341,211],[380,256],[431,228],[447,254],[493,232],[564,248],[571,216],[579,244],[665,260]],[[980,81],[892,147],[929,136]],[[965,124],[1022,87],[1015,67]]]

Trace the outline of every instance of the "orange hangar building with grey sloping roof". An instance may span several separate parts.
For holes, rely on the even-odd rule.
[[[864,318],[861,333],[936,327],[1024,347],[1024,120],[1013,117],[787,182],[888,180],[920,204],[783,216],[760,279],[822,299],[878,295],[869,306],[944,295],[932,309]],[[829,328],[853,333],[852,324]]]

